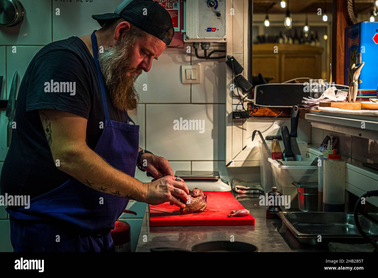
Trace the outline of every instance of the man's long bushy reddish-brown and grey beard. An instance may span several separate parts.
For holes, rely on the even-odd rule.
[[[139,94],[135,89],[135,82],[141,74],[139,68],[130,67],[130,47],[135,42],[135,37],[123,37],[114,47],[104,47],[100,53],[99,64],[105,86],[112,99],[113,106],[126,111],[138,106]],[[133,72],[137,74],[134,75]],[[130,73],[130,76],[126,76]]]

